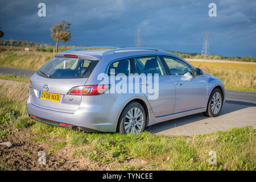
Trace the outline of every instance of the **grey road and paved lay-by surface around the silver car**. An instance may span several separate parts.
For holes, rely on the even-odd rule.
[[[34,72],[0,67],[0,74],[31,76]],[[147,127],[147,131],[154,134],[191,136],[245,126],[256,128],[256,93],[226,90],[226,103],[218,117],[208,118],[201,113],[193,114],[152,125]]]

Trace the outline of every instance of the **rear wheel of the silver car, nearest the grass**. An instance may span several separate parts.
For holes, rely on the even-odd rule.
[[[120,134],[136,134],[144,131],[146,125],[146,113],[141,104],[131,102],[123,109],[118,125],[117,132]]]

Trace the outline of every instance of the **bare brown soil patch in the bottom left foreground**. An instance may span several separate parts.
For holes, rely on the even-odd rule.
[[[75,150],[90,150],[90,146],[73,147],[67,144],[60,150],[49,154],[49,142],[63,141],[59,137],[51,137],[47,142],[34,142],[32,138],[43,136],[30,131],[30,129],[15,129],[0,143],[10,141],[13,146],[8,148],[0,145],[0,164],[7,164],[7,170],[121,170],[123,166],[140,166],[141,159],[131,159],[123,163],[97,163],[80,155],[72,156]],[[39,151],[46,152],[46,164],[39,164]],[[139,167],[143,169],[143,167]]]

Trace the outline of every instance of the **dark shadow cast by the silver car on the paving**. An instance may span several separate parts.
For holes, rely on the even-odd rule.
[[[225,104],[222,106],[222,110],[220,115],[225,115],[228,113],[232,113],[237,110],[245,109],[247,107],[256,107],[256,104],[250,102],[242,102],[242,101],[232,101],[226,100]],[[200,121],[201,119],[206,119],[203,113],[188,115],[185,117],[171,119],[169,121],[157,123],[155,125],[151,125],[146,127],[146,131],[150,133],[159,133],[164,130],[172,129],[174,127],[187,125],[189,123]]]

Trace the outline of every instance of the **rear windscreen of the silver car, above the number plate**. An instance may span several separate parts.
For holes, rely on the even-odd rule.
[[[88,78],[97,63],[97,60],[53,57],[36,74],[47,78]]]

